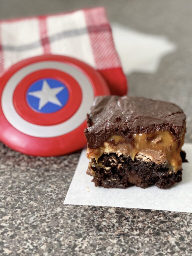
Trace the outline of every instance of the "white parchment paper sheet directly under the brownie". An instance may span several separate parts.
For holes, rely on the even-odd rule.
[[[183,164],[182,182],[169,189],[151,186],[146,189],[95,187],[92,177],[86,174],[88,159],[82,150],[79,163],[69,187],[64,204],[114,206],[141,209],[192,212],[192,144],[186,143],[183,150],[189,163]]]

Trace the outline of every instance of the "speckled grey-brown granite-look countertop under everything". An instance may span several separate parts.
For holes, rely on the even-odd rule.
[[[0,19],[68,11],[91,2],[2,0]],[[186,142],[192,142],[191,2],[104,0],[94,5],[101,4],[111,21],[166,35],[177,45],[155,74],[128,77],[129,95],[178,104],[187,115]],[[79,156],[31,157],[0,144],[0,255],[192,255],[190,213],[63,205]]]

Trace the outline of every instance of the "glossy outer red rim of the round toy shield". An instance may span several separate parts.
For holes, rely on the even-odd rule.
[[[57,62],[63,62],[70,66],[73,66],[74,68],[79,69],[79,71],[84,73],[84,75],[90,80],[92,89],[94,91],[94,96],[110,95],[110,91],[105,80],[101,77],[99,72],[94,70],[92,67],[90,67],[86,63],[71,57],[66,57],[66,56],[43,55],[43,56],[32,57],[32,58],[20,61],[17,64],[13,65],[10,69],[8,69],[4,73],[4,75],[1,77],[0,99],[2,100],[3,90],[7,82],[17,71],[19,71],[23,67],[26,67],[27,65],[41,62],[41,61],[57,61]],[[51,77],[50,73],[48,77]],[[37,78],[35,79],[37,80]],[[29,86],[29,83],[28,83],[28,86]],[[23,90],[25,92],[21,92],[23,93],[23,97],[22,97],[23,100],[26,98],[25,93],[27,88],[28,87],[26,86],[25,90]],[[16,89],[17,88],[15,88],[15,90]],[[69,88],[68,90],[70,92]],[[14,92],[10,91],[10,93],[14,95]],[[18,93],[18,96],[19,96],[19,93]],[[14,97],[18,97],[18,96],[16,95]],[[82,100],[86,100],[87,97],[89,97],[89,95],[86,95],[86,94],[83,95]],[[20,100],[21,100],[21,96],[19,97],[19,101]],[[25,100],[25,103],[27,104],[26,100]],[[18,104],[16,105],[18,106]],[[20,108],[18,111],[20,111]],[[86,112],[88,111],[89,109],[86,110]],[[60,116],[60,118],[62,117]],[[43,123],[43,125],[45,125],[45,123]],[[13,125],[9,123],[9,121],[6,119],[6,116],[3,112],[2,103],[0,104],[0,140],[10,148],[17,150],[19,152],[22,152],[24,154],[34,155],[34,156],[57,156],[57,155],[68,154],[76,150],[79,150],[86,145],[86,138],[84,136],[84,129],[86,127],[87,127],[87,124],[86,124],[86,113],[85,113],[85,115],[82,116],[82,123],[76,129],[71,130],[66,134],[56,136],[56,137],[36,137],[36,136],[27,135],[17,130]]]

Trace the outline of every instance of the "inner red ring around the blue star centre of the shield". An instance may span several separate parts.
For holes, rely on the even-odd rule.
[[[69,99],[62,109],[54,113],[40,113],[30,108],[26,93],[34,82],[39,79],[54,78],[62,82],[69,91]],[[82,92],[78,82],[69,74],[55,69],[42,69],[30,73],[18,83],[14,94],[13,104],[17,113],[23,119],[37,125],[55,125],[68,120],[78,110],[82,101]]]

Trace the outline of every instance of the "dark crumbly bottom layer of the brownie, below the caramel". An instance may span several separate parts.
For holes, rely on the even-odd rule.
[[[184,153],[182,160],[186,162]],[[115,153],[103,154],[98,159],[98,163],[92,163],[91,169],[94,171],[92,181],[95,186],[104,188],[126,188],[133,185],[141,188],[149,185],[169,188],[182,180],[182,169],[176,174],[169,174],[165,164],[157,165],[139,159],[133,161],[130,156],[118,157]]]

